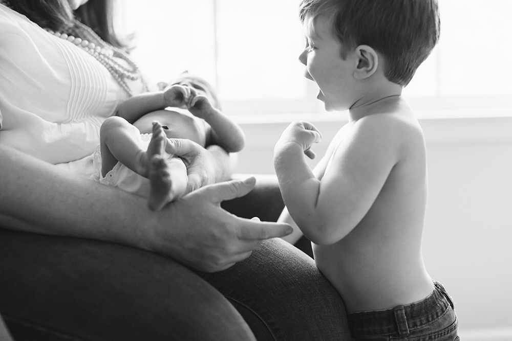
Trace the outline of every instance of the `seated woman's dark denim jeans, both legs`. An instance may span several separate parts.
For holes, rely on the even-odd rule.
[[[141,249],[0,228],[0,313],[15,340],[350,340],[339,294],[282,241],[201,276],[213,286]]]

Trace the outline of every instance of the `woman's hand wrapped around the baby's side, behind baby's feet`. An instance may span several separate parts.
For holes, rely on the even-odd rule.
[[[229,155],[219,146],[207,149],[186,139],[169,139],[166,152],[180,157],[187,166],[186,193],[230,177]]]

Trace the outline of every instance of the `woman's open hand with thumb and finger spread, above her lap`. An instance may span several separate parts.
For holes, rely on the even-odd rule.
[[[202,187],[159,212],[150,249],[203,271],[220,271],[249,257],[265,239],[292,232],[285,223],[243,219],[220,207],[244,196],[254,177]],[[173,226],[173,227],[171,227]]]

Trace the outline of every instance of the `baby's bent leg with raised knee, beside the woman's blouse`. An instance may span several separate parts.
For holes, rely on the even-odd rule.
[[[101,174],[120,162],[137,174],[148,177],[148,158],[140,143],[140,132],[126,120],[113,116],[100,129]]]

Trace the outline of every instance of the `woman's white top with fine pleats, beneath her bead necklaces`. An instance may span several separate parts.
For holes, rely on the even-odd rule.
[[[0,4],[1,144],[88,175],[101,123],[127,97],[94,57]]]

